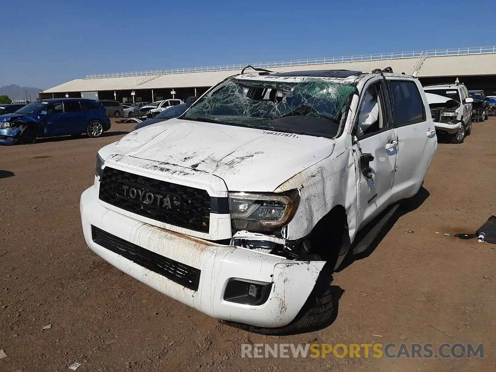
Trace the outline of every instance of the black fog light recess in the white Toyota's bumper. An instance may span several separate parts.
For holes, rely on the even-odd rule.
[[[230,278],[224,291],[224,300],[237,304],[259,306],[269,298],[272,283]]]

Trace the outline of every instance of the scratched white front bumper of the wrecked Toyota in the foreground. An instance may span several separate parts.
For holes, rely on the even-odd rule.
[[[292,261],[246,248],[217,245],[136,221],[98,203],[91,186],[81,195],[86,244],[126,274],[217,319],[261,327],[290,323],[306,302],[323,261]],[[198,290],[188,289],[93,242],[91,225],[170,259],[200,269]],[[259,306],[223,299],[230,278],[272,282],[268,300]]]

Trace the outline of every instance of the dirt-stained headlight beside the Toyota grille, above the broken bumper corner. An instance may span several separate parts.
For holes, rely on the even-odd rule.
[[[230,192],[229,208],[233,228],[248,231],[274,231],[295,215],[300,201],[298,190],[281,193]]]

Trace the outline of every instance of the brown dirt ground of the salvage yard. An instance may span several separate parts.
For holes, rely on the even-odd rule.
[[[334,273],[335,321],[271,337],[220,324],[86,247],[79,196],[105,137],[0,147],[0,371],[495,371],[496,246],[460,240],[496,202],[496,118],[440,143],[416,209]],[[407,231],[413,231],[408,233]],[[451,236],[444,236],[450,233]],[[42,329],[51,324],[50,329]],[[246,359],[242,343],[484,343],[484,358]]]

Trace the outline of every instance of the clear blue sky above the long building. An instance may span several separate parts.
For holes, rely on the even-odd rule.
[[[494,1],[3,1],[0,86],[496,44]]]

